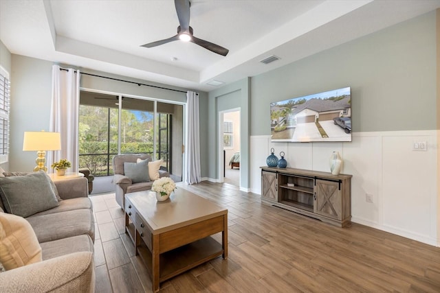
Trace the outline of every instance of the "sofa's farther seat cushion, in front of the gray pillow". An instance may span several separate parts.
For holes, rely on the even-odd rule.
[[[77,209],[27,218],[40,243],[77,235],[89,235],[95,241],[94,215],[91,209]]]

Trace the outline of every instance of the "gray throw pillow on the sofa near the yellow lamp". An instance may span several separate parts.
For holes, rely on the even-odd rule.
[[[52,180],[45,172],[0,177],[0,197],[8,213],[23,218],[58,207]]]

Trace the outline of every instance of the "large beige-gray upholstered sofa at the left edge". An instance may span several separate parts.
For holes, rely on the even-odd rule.
[[[42,261],[1,272],[0,292],[94,292],[95,226],[87,178],[54,184],[58,207],[25,218],[41,246]],[[3,201],[0,207],[6,211]]]

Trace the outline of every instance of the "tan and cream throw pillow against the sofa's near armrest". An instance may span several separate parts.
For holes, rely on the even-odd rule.
[[[0,213],[0,262],[12,270],[42,260],[41,246],[25,219]]]

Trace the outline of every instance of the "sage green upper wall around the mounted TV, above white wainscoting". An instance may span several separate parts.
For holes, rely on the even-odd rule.
[[[435,60],[430,12],[257,75],[251,134],[270,135],[270,102],[345,86],[351,86],[353,132],[434,130]]]

